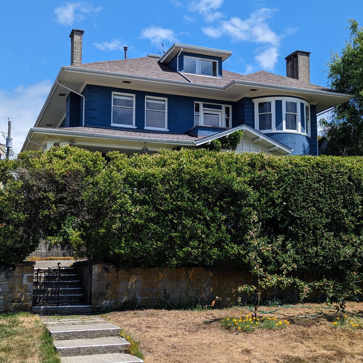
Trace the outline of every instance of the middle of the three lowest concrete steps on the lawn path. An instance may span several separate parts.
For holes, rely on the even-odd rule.
[[[122,353],[130,346],[129,342],[118,337],[54,340],[53,344],[61,357]]]

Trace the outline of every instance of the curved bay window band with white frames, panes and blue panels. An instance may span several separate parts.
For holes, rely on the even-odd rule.
[[[282,120],[276,119],[276,101],[282,102]],[[254,102],[255,128],[260,131],[299,132],[310,136],[310,104],[293,97],[256,98]],[[280,106],[281,107],[281,106]],[[281,109],[280,109],[281,110]],[[302,114],[303,113],[303,114]]]

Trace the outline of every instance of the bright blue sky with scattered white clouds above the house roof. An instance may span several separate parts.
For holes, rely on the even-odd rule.
[[[72,28],[85,30],[84,63],[122,59],[125,45],[134,58],[180,42],[231,50],[223,67],[233,72],[285,76],[284,58],[299,49],[311,52],[311,82],[325,86],[330,51],[349,36],[347,20],[363,25],[358,0],[18,0],[2,2],[1,13],[0,127],[6,132],[11,118],[15,151],[70,64]]]

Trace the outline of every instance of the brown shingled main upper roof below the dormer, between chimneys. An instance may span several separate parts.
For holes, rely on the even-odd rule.
[[[176,72],[168,65],[158,63],[158,58],[155,57],[129,58],[115,61],[85,63],[73,65],[71,67],[189,83],[183,76],[181,76],[181,74]],[[223,78],[205,77],[198,74],[186,74],[185,76],[187,76],[193,83],[211,86],[223,87],[233,80],[238,80],[307,90],[336,92],[330,88],[314,85],[313,83],[309,82],[299,81],[298,79],[294,78],[279,76],[277,74],[265,72],[263,70],[247,75],[223,70]]]

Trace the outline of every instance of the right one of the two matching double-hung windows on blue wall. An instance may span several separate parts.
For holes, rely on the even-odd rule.
[[[167,130],[167,98],[145,97],[145,129]]]

